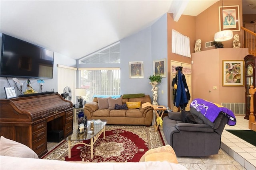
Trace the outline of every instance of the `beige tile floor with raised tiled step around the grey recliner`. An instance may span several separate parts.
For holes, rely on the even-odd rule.
[[[235,126],[226,125],[225,129],[248,129],[248,120],[244,116],[236,116]],[[76,123],[74,124],[76,125]],[[160,127],[162,132],[162,127]],[[163,139],[166,139],[162,133]],[[59,143],[48,143],[48,152]],[[218,154],[204,157],[178,156],[178,162],[188,170],[256,170],[256,147],[232,135],[228,131],[223,131],[221,149]]]

